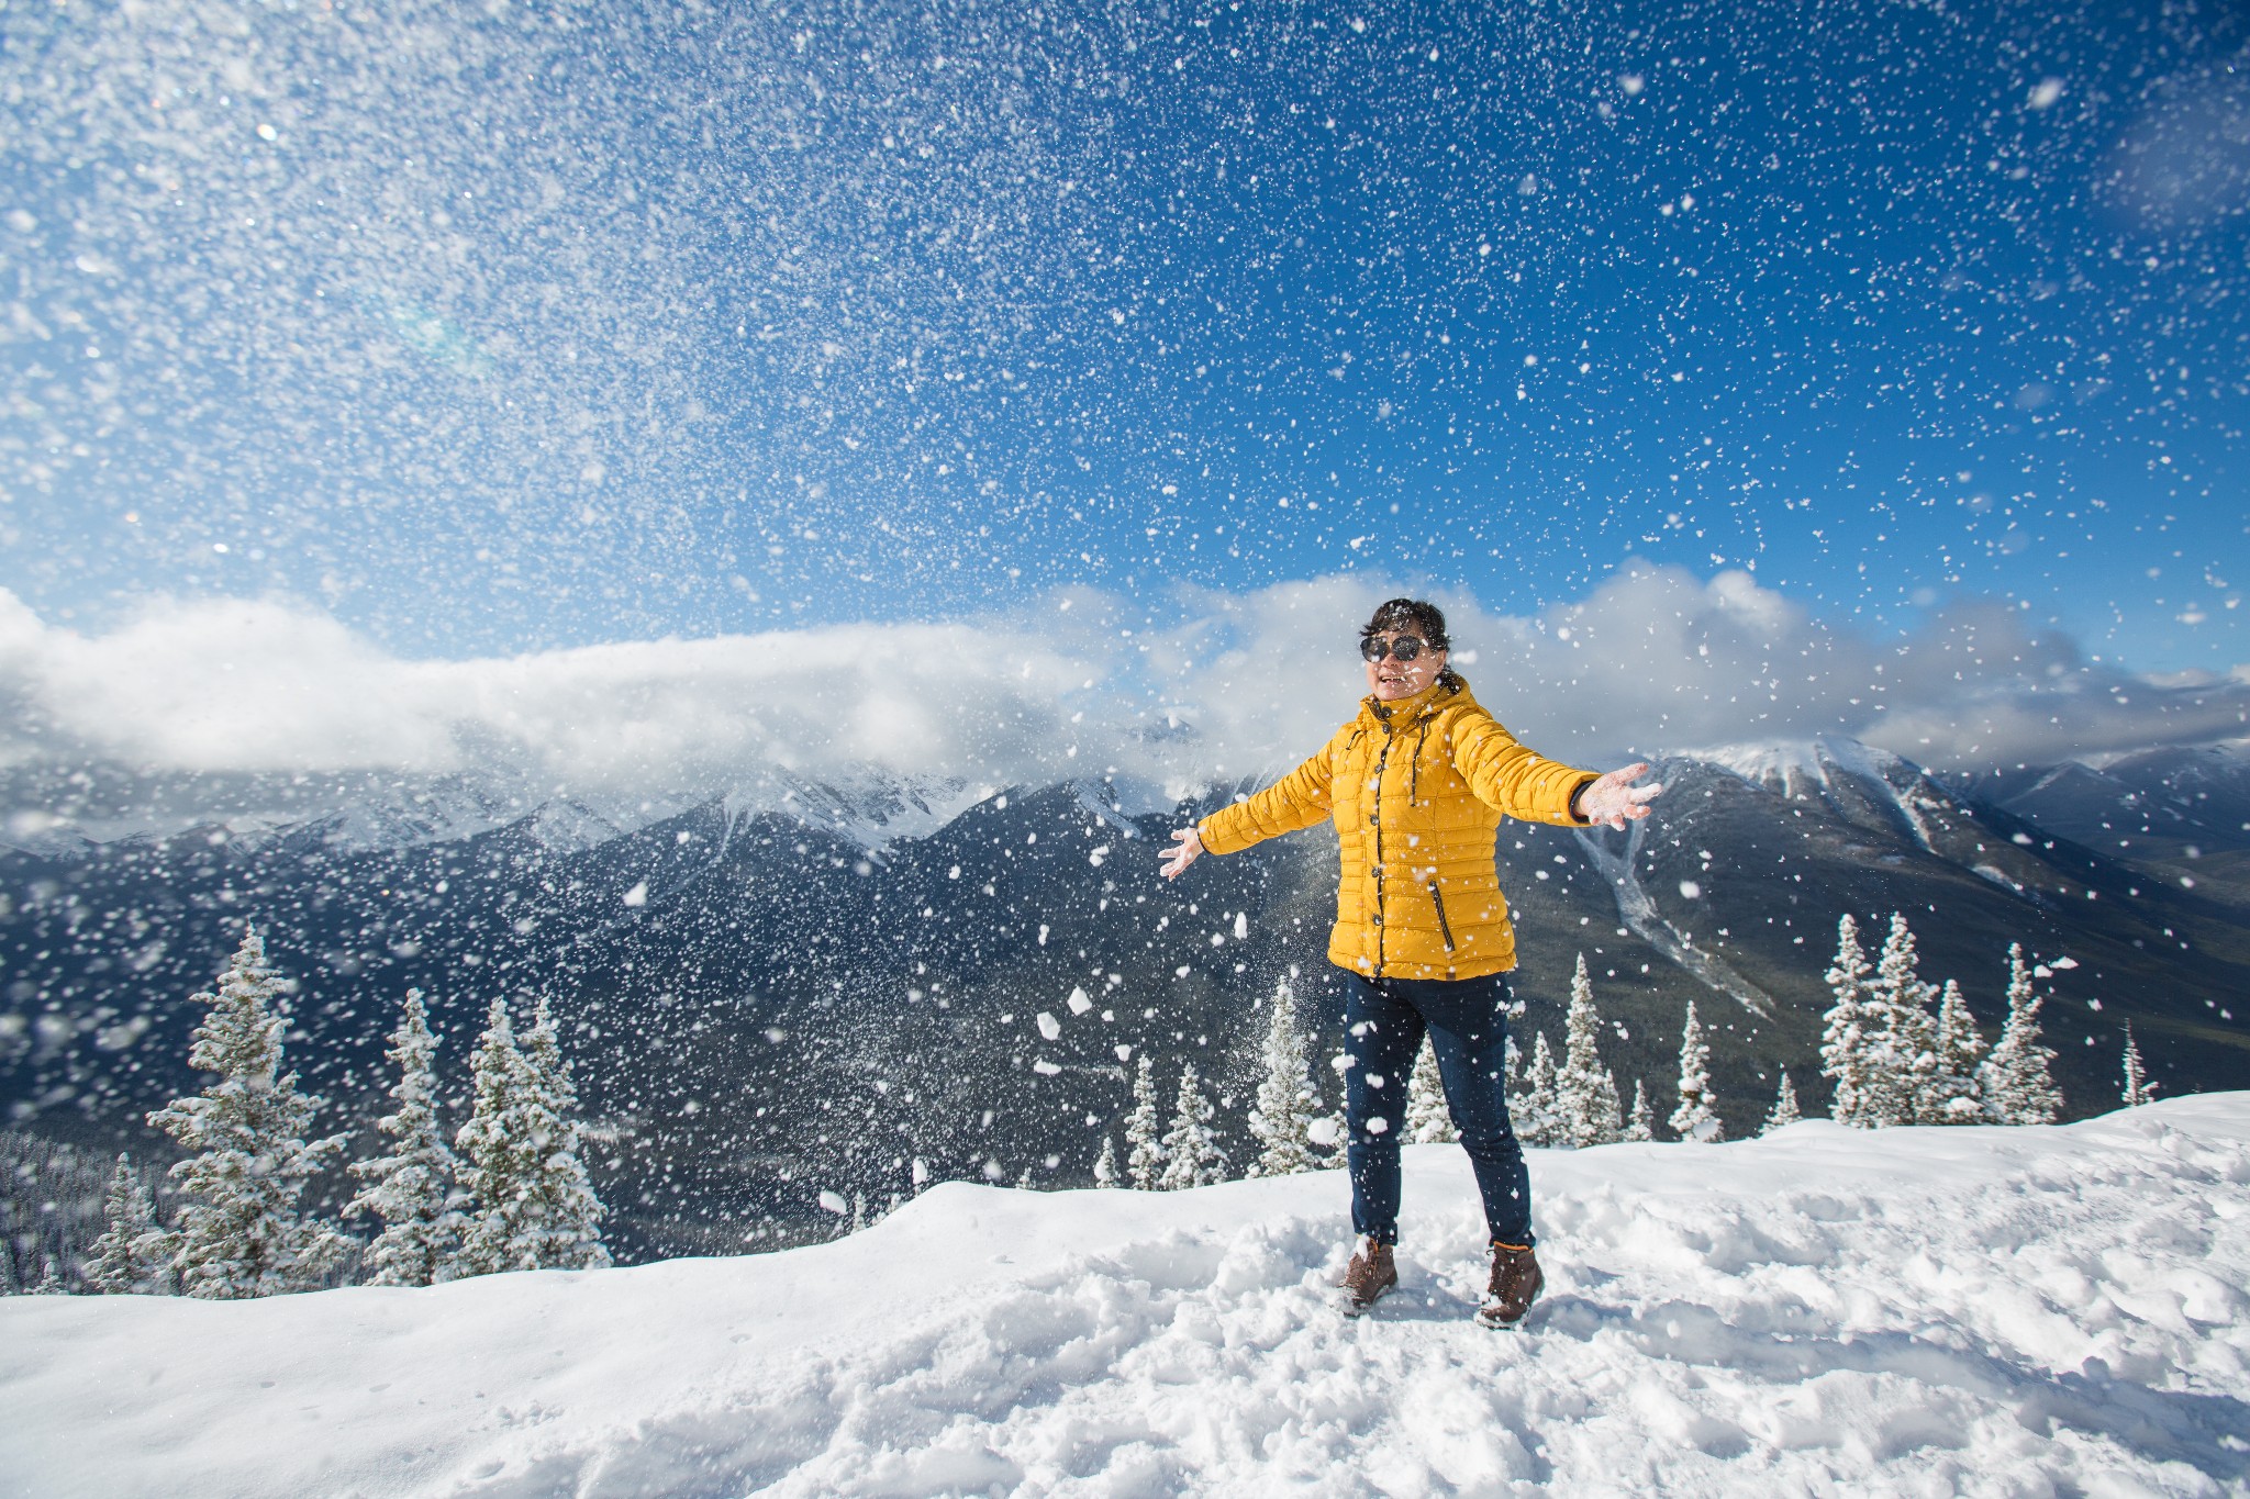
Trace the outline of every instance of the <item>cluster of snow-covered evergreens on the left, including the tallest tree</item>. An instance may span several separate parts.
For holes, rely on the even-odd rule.
[[[315,1137],[324,1101],[284,1068],[288,1007],[256,928],[243,933],[218,989],[191,1002],[207,1014],[189,1063],[214,1079],[148,1115],[187,1151],[169,1171],[178,1207],[162,1223],[148,1182],[119,1155],[104,1234],[83,1265],[88,1288],[212,1299],[315,1290],[353,1247],[374,1285],[610,1263],[603,1207],[578,1155],[578,1097],[547,1000],[533,1005],[522,1036],[508,1002],[493,1000],[470,1063],[470,1117],[448,1142],[436,1038],[421,991],[407,991],[387,1052],[398,1068],[389,1090],[398,1108],[376,1121],[389,1144],[346,1166],[362,1187],[344,1218],[380,1225],[364,1245],[302,1205],[346,1137]]]

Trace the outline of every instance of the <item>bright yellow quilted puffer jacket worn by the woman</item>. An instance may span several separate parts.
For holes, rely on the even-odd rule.
[[[1584,825],[1570,798],[1593,771],[1534,755],[1449,676],[1359,717],[1285,778],[1197,823],[1233,854],[1321,818],[1343,841],[1328,960],[1370,978],[1480,978],[1516,966],[1492,852],[1501,818]]]

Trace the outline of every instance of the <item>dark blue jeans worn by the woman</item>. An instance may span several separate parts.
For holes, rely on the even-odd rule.
[[[1400,1241],[1400,1144],[1406,1079],[1429,1034],[1444,1079],[1444,1106],[1476,1166],[1485,1227],[1505,1245],[1532,1243],[1532,1178],[1508,1124],[1508,975],[1343,975],[1343,1117],[1350,1126],[1352,1229]]]

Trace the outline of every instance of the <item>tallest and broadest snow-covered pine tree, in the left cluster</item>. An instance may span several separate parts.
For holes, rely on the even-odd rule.
[[[148,1124],[191,1155],[171,1169],[180,1189],[171,1268],[191,1297],[238,1299],[313,1290],[344,1238],[297,1209],[306,1180],[344,1148],[342,1135],[306,1139],[322,1099],[281,1072],[288,1016],[256,928],[227,964],[187,1059],[216,1072],[202,1092],[173,1099]]]

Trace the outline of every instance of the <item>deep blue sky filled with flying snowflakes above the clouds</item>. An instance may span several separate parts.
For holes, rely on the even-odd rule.
[[[1642,557],[2228,667],[2250,22],[2041,9],[9,13],[0,587],[461,656]]]

